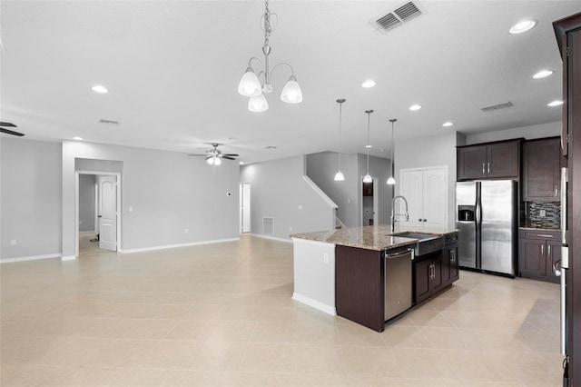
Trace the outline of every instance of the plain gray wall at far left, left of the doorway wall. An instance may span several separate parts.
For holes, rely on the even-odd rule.
[[[61,253],[61,169],[61,144],[2,137],[0,259]]]

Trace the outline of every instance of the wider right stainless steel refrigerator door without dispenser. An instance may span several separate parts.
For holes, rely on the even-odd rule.
[[[515,275],[515,183],[511,180],[483,181],[481,196],[481,269]]]

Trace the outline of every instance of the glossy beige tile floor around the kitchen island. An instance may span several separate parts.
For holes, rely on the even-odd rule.
[[[558,286],[461,272],[379,333],[291,300],[243,235],[0,266],[3,386],[560,386]]]

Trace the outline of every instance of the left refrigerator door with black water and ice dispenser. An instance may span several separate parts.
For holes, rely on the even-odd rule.
[[[458,228],[458,264],[461,267],[476,268],[476,222],[471,221],[463,208],[476,209],[476,182],[458,182],[456,184],[456,228]]]

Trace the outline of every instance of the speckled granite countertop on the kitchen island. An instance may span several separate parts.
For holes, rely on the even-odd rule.
[[[428,235],[446,236],[458,233],[458,230],[436,230],[435,232],[416,232],[406,229],[413,233],[425,233]],[[396,230],[395,233],[401,233]],[[418,243],[418,239],[407,238],[402,236],[391,235],[388,224],[379,224],[363,227],[346,227],[337,230],[320,231],[315,233],[295,233],[291,238],[304,239],[308,241],[324,242],[339,244],[341,246],[357,247],[359,249],[383,251],[396,247],[406,246]]]

